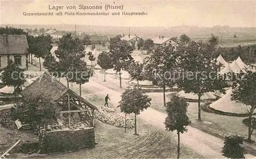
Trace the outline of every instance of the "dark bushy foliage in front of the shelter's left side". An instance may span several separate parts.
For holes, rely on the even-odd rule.
[[[22,122],[30,123],[32,127],[51,124],[59,117],[60,107],[50,100],[23,99],[14,104],[11,109],[13,120],[19,119]]]

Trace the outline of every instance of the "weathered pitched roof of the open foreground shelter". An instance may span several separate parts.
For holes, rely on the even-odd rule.
[[[20,94],[27,99],[41,98],[51,102],[58,102],[67,93],[71,93],[81,102],[86,103],[89,107],[97,109],[97,107],[93,106],[87,100],[80,97],[78,94],[73,92],[73,90],[69,89],[61,82],[52,78],[47,73],[44,73],[40,77],[38,77],[33,83],[31,83],[28,87],[22,90]]]

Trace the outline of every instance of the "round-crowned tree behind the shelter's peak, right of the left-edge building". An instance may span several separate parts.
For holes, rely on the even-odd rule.
[[[52,49],[52,40],[51,36],[40,35],[37,37],[29,38],[29,49],[28,51],[31,54],[34,54],[35,57],[39,58],[39,71],[41,71],[41,58],[45,58],[48,54],[51,54]]]

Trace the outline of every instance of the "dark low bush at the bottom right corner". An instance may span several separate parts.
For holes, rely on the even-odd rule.
[[[227,158],[245,158],[246,151],[242,147],[243,140],[244,138],[238,135],[226,136],[221,151],[223,156]]]

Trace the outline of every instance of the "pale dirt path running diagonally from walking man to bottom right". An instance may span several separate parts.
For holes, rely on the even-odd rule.
[[[83,84],[83,88],[89,89],[89,91],[95,92],[95,95],[104,97],[106,94],[110,95],[111,103],[115,106],[121,100],[121,94],[105,87],[97,82],[90,81],[89,83]],[[102,90],[103,89],[103,90]],[[100,90],[97,92],[97,90]],[[86,95],[84,95],[86,98]],[[154,125],[160,129],[165,129],[164,120],[166,115],[155,109],[148,108],[141,112],[138,116],[141,120],[148,124]],[[181,134],[181,143],[193,149],[197,153],[203,155],[206,158],[223,158],[221,150],[223,147],[223,140],[209,135],[201,130],[188,126],[188,132]],[[176,132],[173,132],[176,138]],[[254,156],[247,155],[246,157],[253,158]]]

